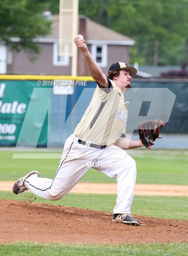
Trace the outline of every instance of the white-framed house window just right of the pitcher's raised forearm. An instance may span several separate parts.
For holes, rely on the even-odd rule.
[[[92,45],[91,55],[99,67],[107,67],[107,45]]]

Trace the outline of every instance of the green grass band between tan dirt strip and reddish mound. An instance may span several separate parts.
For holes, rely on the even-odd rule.
[[[0,199],[38,203],[43,202],[54,205],[112,212],[113,207],[115,206],[116,195],[69,193],[58,201],[48,201],[36,197],[30,192],[19,195],[15,195],[11,192],[0,192]],[[132,204],[132,214],[166,219],[188,220],[188,198],[135,196]]]

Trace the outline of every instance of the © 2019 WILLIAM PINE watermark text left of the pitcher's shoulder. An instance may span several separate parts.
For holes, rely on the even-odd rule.
[[[73,80],[38,80],[38,86],[86,86],[87,81]]]

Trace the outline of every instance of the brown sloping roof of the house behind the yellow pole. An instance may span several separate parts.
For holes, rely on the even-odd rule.
[[[83,16],[79,16],[83,18]],[[47,35],[46,39],[58,39],[59,37],[59,15],[53,15],[51,17],[53,21],[51,26],[51,34]],[[92,43],[93,41],[106,41],[111,42],[111,44],[120,45],[134,45],[134,40],[128,36],[124,36],[110,28],[107,28],[97,22],[90,20],[90,18],[85,17],[86,21],[86,36],[87,42]],[[71,23],[66,25],[67,30],[71,29]]]

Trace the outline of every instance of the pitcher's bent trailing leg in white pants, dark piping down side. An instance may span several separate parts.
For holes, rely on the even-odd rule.
[[[89,167],[86,166],[86,162],[88,159],[95,161],[96,153],[96,148],[87,148],[68,139],[54,179],[39,178],[34,174],[22,182],[23,186],[39,197],[58,200],[68,193],[88,171]],[[23,177],[21,179],[23,180]]]

